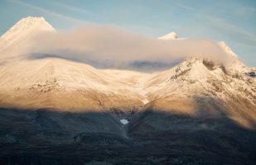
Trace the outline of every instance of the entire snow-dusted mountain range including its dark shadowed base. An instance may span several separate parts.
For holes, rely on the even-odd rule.
[[[225,43],[229,66],[155,73],[12,54],[41,31],[55,30],[28,17],[1,37],[0,164],[256,163],[256,70]]]

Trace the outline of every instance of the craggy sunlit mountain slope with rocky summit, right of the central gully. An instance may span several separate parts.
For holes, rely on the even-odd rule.
[[[233,71],[233,70],[232,70]],[[256,81],[203,59],[187,59],[145,83],[146,109],[186,115],[228,116],[255,128]]]

